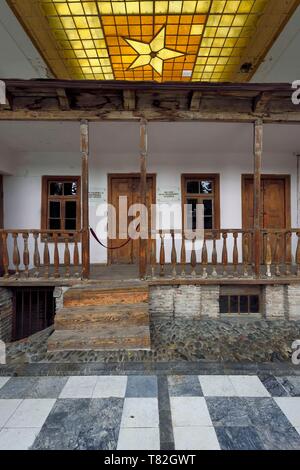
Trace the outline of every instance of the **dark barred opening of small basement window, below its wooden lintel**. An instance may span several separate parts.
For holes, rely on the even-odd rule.
[[[249,315],[260,313],[259,295],[221,295],[220,313],[231,315]]]

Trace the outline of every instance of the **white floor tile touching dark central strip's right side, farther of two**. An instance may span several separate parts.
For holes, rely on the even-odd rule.
[[[173,427],[212,426],[205,398],[171,397]]]

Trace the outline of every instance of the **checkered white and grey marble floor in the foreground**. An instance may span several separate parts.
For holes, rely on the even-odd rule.
[[[0,377],[0,449],[300,450],[300,377]]]

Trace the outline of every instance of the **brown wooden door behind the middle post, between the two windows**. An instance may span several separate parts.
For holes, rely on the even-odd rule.
[[[119,200],[121,196],[127,197],[127,209],[133,204],[140,202],[140,177],[138,175],[110,175],[109,176],[109,203],[116,210],[116,238],[108,240],[108,262],[111,264],[135,264],[139,259],[139,239],[129,240],[128,226],[135,217],[127,216],[127,226],[119,225]],[[155,178],[147,177],[147,209],[148,230],[151,229],[151,204],[155,203]],[[110,223],[110,222],[109,222]],[[150,254],[151,239],[149,239]]]

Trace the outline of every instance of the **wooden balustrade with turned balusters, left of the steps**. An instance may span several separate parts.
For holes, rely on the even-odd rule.
[[[0,237],[4,278],[81,276],[80,232],[1,229]]]

